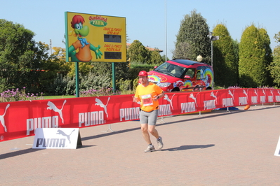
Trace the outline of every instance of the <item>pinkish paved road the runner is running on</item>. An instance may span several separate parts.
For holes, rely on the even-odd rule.
[[[1,142],[0,185],[280,185],[280,107],[239,108],[160,117],[164,148],[150,153],[138,121],[80,129],[75,150]]]

